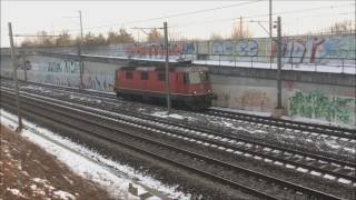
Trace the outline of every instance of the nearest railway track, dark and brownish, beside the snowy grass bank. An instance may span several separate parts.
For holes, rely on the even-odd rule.
[[[9,90],[1,90],[1,94],[2,94],[2,99],[6,100],[6,104],[7,106],[13,106],[13,97],[12,92]],[[323,199],[342,199],[325,192],[320,192],[314,189],[309,189],[306,187],[301,187],[299,184],[295,184],[288,181],[284,181],[274,177],[269,177],[263,173],[258,173],[228,162],[224,162],[221,160],[218,159],[214,159],[214,158],[209,158],[207,156],[204,154],[199,154],[197,152],[192,152],[192,151],[188,151],[185,149],[181,149],[179,147],[175,147],[172,144],[168,144],[168,143],[164,143],[161,141],[157,141],[152,138],[148,138],[148,137],[142,137],[142,136],[137,136],[135,133],[135,131],[128,132],[127,130],[122,130],[120,128],[118,128],[118,126],[112,126],[112,123],[108,123],[107,121],[113,120],[112,118],[109,117],[100,117],[99,114],[97,114],[96,112],[89,112],[87,110],[79,110],[79,109],[73,109],[67,106],[66,102],[61,102],[60,104],[58,104],[58,100],[53,100],[53,101],[49,101],[48,98],[39,98],[36,96],[30,96],[30,94],[24,94],[22,93],[22,98],[23,101],[22,103],[26,106],[26,112],[28,114],[37,114],[37,116],[41,116],[44,119],[51,118],[53,121],[60,122],[63,126],[67,127],[71,127],[71,128],[76,128],[76,129],[81,129],[82,132],[88,132],[90,134],[95,134],[96,137],[102,138],[105,140],[115,142],[117,144],[120,146],[125,146],[127,148],[130,149],[135,149],[136,151],[139,151],[141,153],[148,154],[150,157],[157,158],[159,160],[164,160],[166,162],[169,162],[174,166],[178,166],[179,168],[184,168],[186,170],[189,171],[194,171],[196,173],[199,173],[201,176],[208,177],[215,181],[218,181],[222,184],[228,184],[229,187],[233,188],[238,188],[244,190],[247,193],[254,194],[256,197],[259,197],[261,199],[278,199],[276,198],[276,192],[275,196],[269,194],[269,193],[265,193],[261,191],[258,191],[254,188],[250,187],[246,187],[241,183],[235,182],[234,180],[229,180],[227,177],[219,177],[217,176],[217,173],[211,173],[209,171],[204,171],[201,169],[198,169],[196,167],[191,167],[188,166],[187,163],[182,163],[179,162],[179,158],[181,158],[181,156],[178,154],[184,154],[186,158],[190,158],[190,161],[194,160],[199,160],[199,161],[204,161],[205,163],[209,163],[212,166],[217,166],[217,168],[224,168],[226,170],[230,170],[234,172],[238,172],[238,173],[244,173],[246,176],[250,176],[250,177],[255,177],[257,179],[263,179],[264,181],[266,181],[266,184],[268,183],[273,183],[273,184],[278,184],[281,186],[283,188],[286,187],[290,190],[294,191],[299,191],[303,193],[307,193],[308,196],[314,196],[317,198],[323,198]],[[26,100],[24,100],[26,99]],[[57,103],[56,103],[57,102]],[[73,123],[76,121],[76,123]],[[82,126],[73,126],[73,124],[82,124]],[[128,126],[132,122],[128,122],[128,121],[118,121],[118,120],[113,120],[113,122],[117,124],[118,122],[122,123],[122,126]],[[142,130],[142,124],[141,123],[134,123],[136,124],[139,129]],[[131,130],[132,130],[132,124],[130,124]],[[100,134],[97,132],[98,128],[103,129],[106,131],[101,132]],[[145,129],[147,130],[147,129]],[[107,133],[105,133],[107,132]],[[118,138],[115,134],[108,133],[108,132],[116,132],[119,133],[121,137]],[[152,127],[150,127],[150,132],[156,132],[157,130]],[[127,137],[127,141],[122,141],[122,137]],[[191,138],[190,138],[191,139]],[[128,142],[130,141],[130,142]],[[141,144],[137,144],[137,142],[141,142]],[[136,143],[135,146],[132,146],[132,143]],[[145,144],[142,144],[145,143]],[[142,146],[156,146],[156,148],[160,149],[162,151],[162,148],[166,148],[167,152],[172,153],[172,154],[177,154],[178,160],[174,160],[170,157],[167,158],[167,154],[159,154],[157,153],[157,151],[147,151],[141,148],[137,148],[137,147],[142,147]],[[148,146],[146,146],[148,147]],[[149,149],[149,148],[148,148]],[[159,151],[158,151],[159,152]],[[166,152],[166,153],[167,153]],[[266,187],[266,186],[265,186]],[[277,193],[279,193],[280,197],[280,192],[278,191]],[[283,192],[285,193],[285,192]],[[290,191],[288,191],[287,193],[290,193]],[[290,197],[289,194],[286,194],[288,197]]]

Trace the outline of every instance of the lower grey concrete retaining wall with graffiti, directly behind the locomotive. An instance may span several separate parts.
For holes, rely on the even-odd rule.
[[[30,81],[79,87],[79,64],[75,57],[28,56],[24,60],[31,66],[27,71]],[[115,70],[125,66],[126,61],[85,58],[83,64],[85,88],[112,91]],[[277,102],[275,70],[208,68],[212,91],[218,96],[214,106],[274,111]],[[23,68],[18,73],[24,79]],[[12,76],[10,57],[1,57],[1,76]],[[281,77],[285,114],[355,124],[356,80],[353,74],[283,71]]]

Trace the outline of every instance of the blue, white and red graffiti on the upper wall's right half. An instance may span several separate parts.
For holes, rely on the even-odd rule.
[[[281,54],[284,63],[355,63],[356,38],[353,36],[318,36],[283,38]],[[271,49],[269,50],[269,42]],[[199,43],[199,42],[198,42]],[[199,46],[198,46],[199,47]],[[210,41],[210,54],[259,57],[260,61],[277,58],[277,42],[267,38],[238,41]],[[198,49],[198,52],[199,49]],[[201,52],[202,53],[202,52]],[[335,60],[347,59],[347,60]],[[353,61],[354,60],[354,61]]]

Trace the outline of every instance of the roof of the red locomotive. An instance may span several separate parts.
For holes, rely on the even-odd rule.
[[[169,71],[207,71],[208,69],[205,67],[187,67],[187,66],[171,66],[168,67]],[[128,66],[121,67],[120,70],[122,71],[165,71],[165,66]]]

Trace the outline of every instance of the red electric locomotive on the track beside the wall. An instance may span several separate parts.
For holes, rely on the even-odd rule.
[[[164,66],[121,67],[116,71],[115,91],[118,97],[164,101],[166,98]],[[207,68],[169,67],[169,88],[172,104],[194,110],[211,106],[211,86]]]

